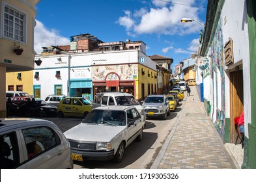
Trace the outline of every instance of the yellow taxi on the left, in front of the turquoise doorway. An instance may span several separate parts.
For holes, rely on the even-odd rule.
[[[63,98],[59,102],[57,115],[59,118],[66,116],[83,117],[92,110],[92,101],[86,98]]]

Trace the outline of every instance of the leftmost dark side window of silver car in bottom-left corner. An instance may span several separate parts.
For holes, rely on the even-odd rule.
[[[0,136],[1,169],[16,168],[20,164],[20,155],[16,132]]]

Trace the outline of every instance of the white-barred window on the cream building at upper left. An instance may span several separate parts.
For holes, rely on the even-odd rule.
[[[3,18],[3,36],[18,42],[25,42],[26,15],[5,5]]]

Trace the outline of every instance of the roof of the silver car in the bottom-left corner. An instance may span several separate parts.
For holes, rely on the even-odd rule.
[[[41,120],[36,118],[0,118],[0,132],[8,129],[14,129],[18,127],[25,127],[31,125],[52,125],[53,123],[48,120]]]

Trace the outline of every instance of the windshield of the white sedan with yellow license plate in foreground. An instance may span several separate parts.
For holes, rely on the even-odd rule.
[[[104,125],[126,125],[125,112],[123,110],[92,110],[82,123]]]

